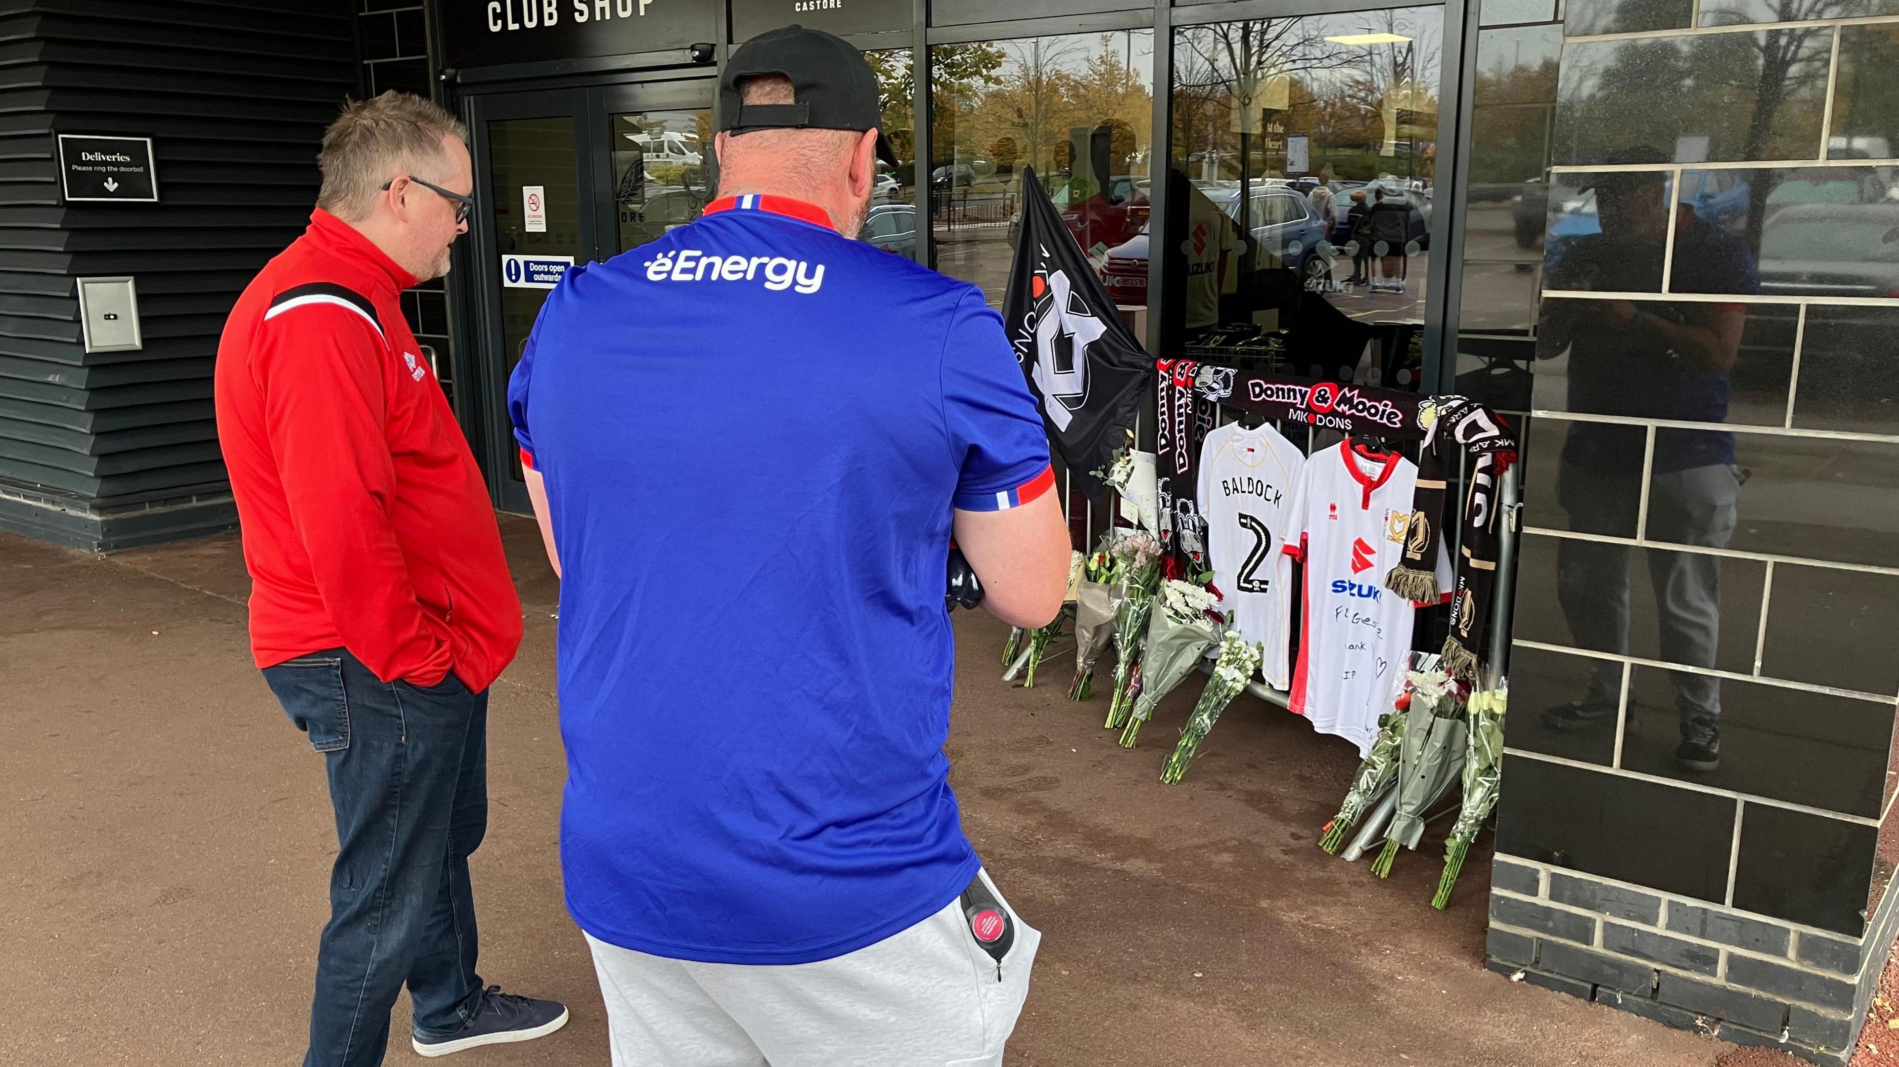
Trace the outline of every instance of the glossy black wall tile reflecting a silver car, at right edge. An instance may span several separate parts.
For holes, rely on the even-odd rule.
[[[1899,292],[1899,180],[1890,167],[1683,171],[1675,292]],[[1705,222],[1705,226],[1703,226]]]

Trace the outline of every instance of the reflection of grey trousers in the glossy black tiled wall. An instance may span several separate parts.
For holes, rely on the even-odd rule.
[[[1650,541],[1724,549],[1734,537],[1741,482],[1732,465],[1656,471],[1648,490]],[[1563,463],[1557,501],[1578,534],[1626,535],[1635,526],[1641,477],[1599,475]],[[1635,549],[1607,541],[1563,539],[1557,547],[1557,598],[1576,644],[1593,651],[1629,651],[1629,562]],[[1720,646],[1720,556],[1646,549],[1656,600],[1660,659],[1715,666]],[[1720,680],[1671,670],[1683,723],[1720,720]],[[1601,661],[1589,699],[1616,702],[1622,665]]]

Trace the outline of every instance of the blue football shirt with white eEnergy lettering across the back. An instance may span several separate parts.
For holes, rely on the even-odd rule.
[[[786,964],[955,900],[951,507],[1054,484],[982,292],[727,197],[570,270],[507,397],[564,571],[575,923]]]

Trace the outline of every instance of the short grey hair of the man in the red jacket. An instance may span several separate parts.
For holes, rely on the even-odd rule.
[[[323,131],[317,207],[349,222],[363,218],[382,182],[408,169],[433,171],[442,161],[442,137],[465,144],[469,127],[433,101],[395,89],[349,101]]]

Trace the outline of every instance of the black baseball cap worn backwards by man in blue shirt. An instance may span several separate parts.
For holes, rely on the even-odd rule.
[[[790,104],[743,104],[739,82],[760,74],[792,80]],[[883,135],[883,108],[877,106],[877,76],[864,55],[843,38],[805,27],[765,30],[733,49],[718,78],[720,129],[754,133],[758,129],[875,129],[877,158],[896,165],[891,140]]]

